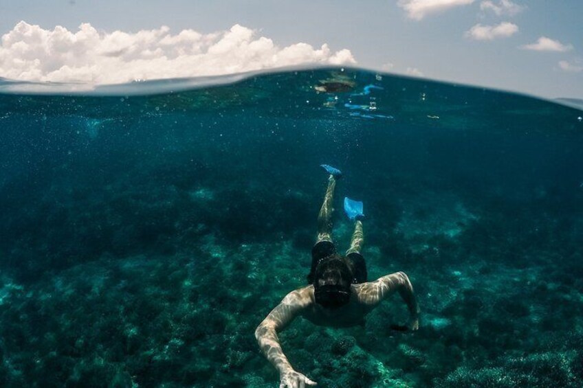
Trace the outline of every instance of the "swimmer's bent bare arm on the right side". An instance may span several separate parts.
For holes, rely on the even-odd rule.
[[[404,272],[391,273],[380,277],[374,282],[364,283],[358,293],[359,301],[363,304],[375,307],[381,301],[399,292],[401,298],[407,304],[410,313],[409,329],[417,330],[419,328],[419,305],[413,292],[413,286],[409,277]]]

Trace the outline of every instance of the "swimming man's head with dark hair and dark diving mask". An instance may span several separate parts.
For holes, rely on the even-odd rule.
[[[312,275],[316,303],[327,308],[344,306],[350,300],[352,279],[351,260],[340,255],[321,259]]]

